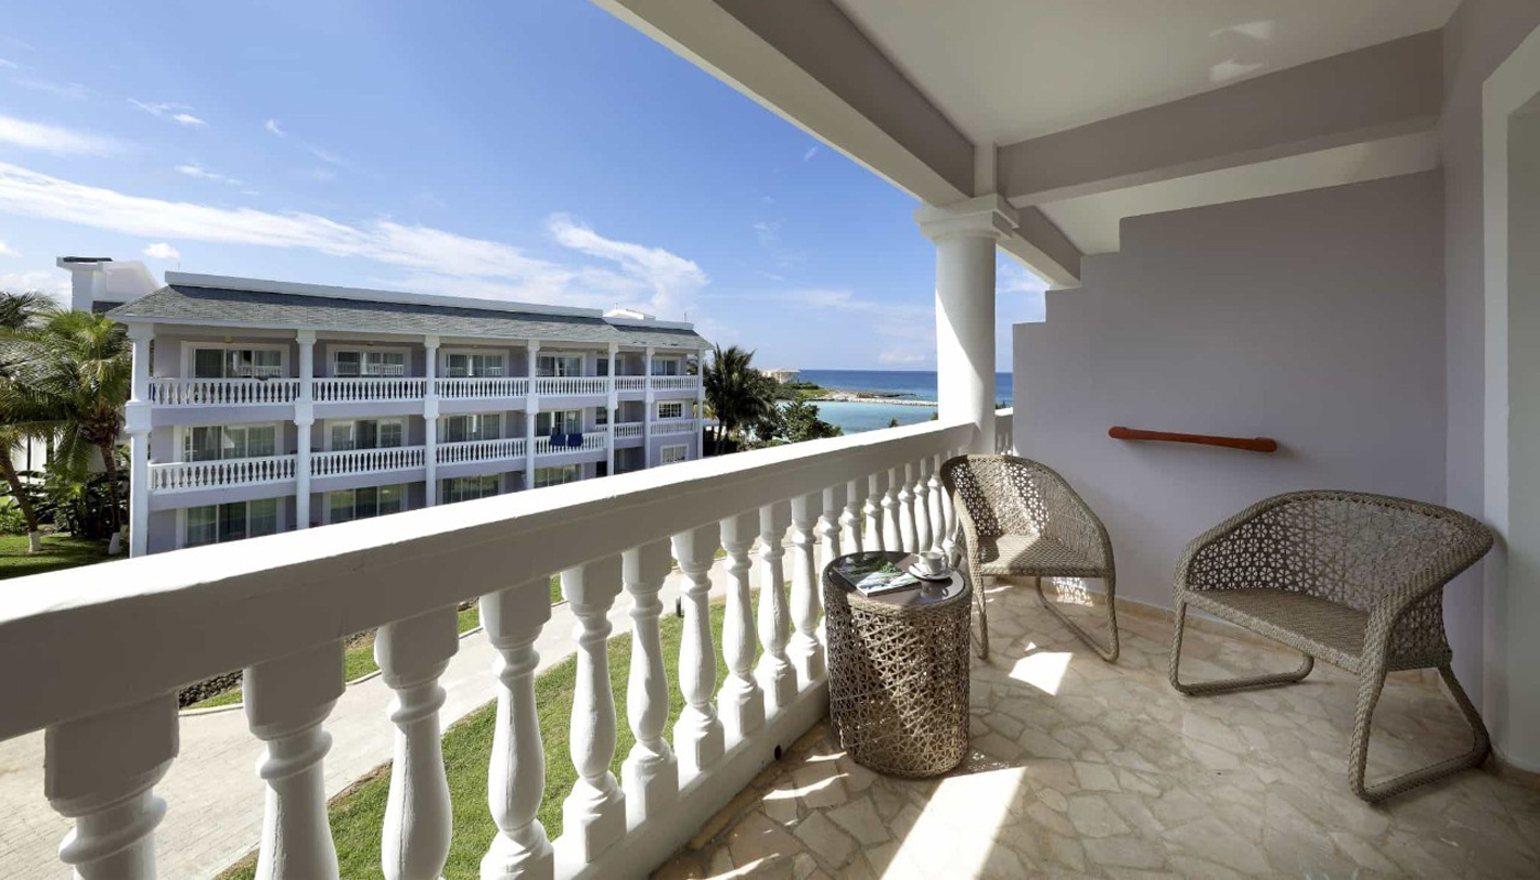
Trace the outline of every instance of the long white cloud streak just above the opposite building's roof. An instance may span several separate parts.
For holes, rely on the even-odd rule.
[[[553,262],[519,248],[388,219],[342,223],[317,214],[220,208],[131,196],[0,162],[0,211],[152,239],[306,248],[408,270],[407,287],[564,305],[630,305],[662,317],[693,307],[707,276],[664,248],[608,239],[565,214],[547,230],[596,262]]]

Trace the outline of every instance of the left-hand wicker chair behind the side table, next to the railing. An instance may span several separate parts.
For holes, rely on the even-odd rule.
[[[941,482],[962,530],[962,556],[978,596],[979,657],[989,657],[984,578],[1030,576],[1038,600],[1103,660],[1118,658],[1116,569],[1107,529],[1052,469],[1009,455],[966,455],[941,465]],[[1106,644],[1064,616],[1043,578],[1101,578],[1107,589]]]

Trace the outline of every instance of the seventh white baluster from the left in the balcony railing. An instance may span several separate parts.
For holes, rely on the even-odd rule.
[[[675,754],[681,766],[710,767],[722,757],[722,721],[711,706],[716,686],[716,653],[711,650],[711,563],[716,556],[716,522],[673,536],[675,559],[684,572],[681,598],[684,633],[679,641],[679,690],[685,706],[675,721]]]

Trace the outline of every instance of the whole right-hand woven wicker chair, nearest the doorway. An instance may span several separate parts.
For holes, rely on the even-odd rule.
[[[1189,695],[1289,684],[1315,658],[1358,675],[1349,746],[1352,791],[1377,803],[1480,764],[1491,741],[1449,661],[1443,586],[1492,546],[1478,521],[1432,504],[1354,492],[1295,492],[1261,501],[1203,533],[1177,563],[1170,683]],[[1187,606],[1298,649],[1294,672],[1183,684]],[[1437,669],[1475,741],[1454,758],[1364,786],[1369,724],[1388,672]]]

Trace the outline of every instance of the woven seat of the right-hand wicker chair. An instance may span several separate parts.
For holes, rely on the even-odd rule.
[[[1349,672],[1358,672],[1369,615],[1287,590],[1192,590],[1187,604],[1278,640]]]

